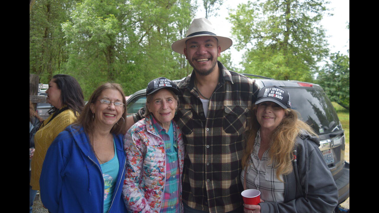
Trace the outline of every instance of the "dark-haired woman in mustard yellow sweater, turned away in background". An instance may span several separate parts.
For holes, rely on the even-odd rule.
[[[34,136],[35,151],[31,160],[30,180],[33,190],[39,190],[42,163],[50,144],[64,128],[77,120],[84,108],[83,92],[78,81],[70,75],[54,75],[46,94],[47,102],[53,107],[49,110],[50,116]]]

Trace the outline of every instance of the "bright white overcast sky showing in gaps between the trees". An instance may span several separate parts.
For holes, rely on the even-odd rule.
[[[326,30],[326,35],[329,37],[329,49],[330,52],[338,52],[347,55],[347,50],[349,49],[349,30],[346,28],[348,25],[346,22],[349,22],[349,1],[347,0],[329,0],[330,4],[327,5],[328,8],[333,9],[330,13],[334,16],[324,16],[321,21]],[[209,20],[215,26],[216,34],[219,36],[226,36],[232,38],[230,29],[231,24],[225,19],[229,16],[228,10],[235,9],[239,3],[246,3],[247,0],[224,0],[222,8],[218,11],[220,16],[210,17]],[[202,3],[202,0],[198,0],[198,3]],[[199,6],[199,11],[197,12],[195,18],[205,17],[205,12],[203,6]],[[232,38],[233,42],[234,39]],[[241,67],[238,63],[241,62],[242,53],[238,52],[231,47],[232,60],[237,67]],[[221,53],[222,54],[222,53]]]

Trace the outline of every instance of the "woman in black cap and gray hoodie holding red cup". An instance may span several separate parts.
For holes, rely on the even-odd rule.
[[[245,213],[332,212],[338,191],[319,140],[291,110],[290,94],[279,86],[262,88],[242,158],[245,189],[261,192],[261,203]]]

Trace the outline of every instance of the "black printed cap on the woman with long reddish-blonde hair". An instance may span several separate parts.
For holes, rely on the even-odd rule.
[[[265,86],[258,92],[255,104],[271,101],[284,109],[291,108],[290,94],[279,86]]]

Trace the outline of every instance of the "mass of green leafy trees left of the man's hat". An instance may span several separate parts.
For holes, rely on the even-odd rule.
[[[41,83],[53,74],[72,75],[88,99],[106,81],[131,94],[153,78],[180,79],[192,71],[184,56],[171,50],[191,23],[196,8],[190,0],[58,2],[37,1],[30,14],[30,73]],[[59,16],[47,14],[46,5]]]

